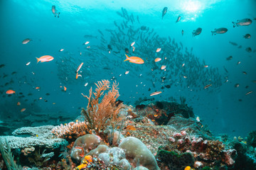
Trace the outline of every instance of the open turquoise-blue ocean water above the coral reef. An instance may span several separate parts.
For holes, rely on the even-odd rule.
[[[95,89],[94,83],[101,79],[115,79],[119,83],[119,99],[126,104],[134,105],[139,98],[153,98],[149,94],[162,91],[154,96],[156,101],[169,101],[171,97],[178,101],[180,96],[185,97],[188,106],[193,107],[193,112],[215,134],[245,136],[256,128],[256,84],[253,82],[256,81],[255,0],[4,0],[0,3],[0,64],[4,64],[0,68],[1,124],[9,120],[23,122],[24,116],[34,112],[76,118],[80,108],[87,106],[87,99],[81,93],[88,95],[90,87]],[[59,18],[52,13],[53,5],[60,12]],[[168,10],[162,19],[165,6]],[[122,13],[124,9],[129,16],[134,16],[134,23],[119,16],[117,12]],[[181,20],[176,23],[178,16]],[[232,22],[243,18],[250,18],[252,24],[233,28]],[[124,26],[126,21],[136,34],[133,39],[127,32],[120,33],[120,30],[129,30]],[[146,26],[146,30],[142,26]],[[152,34],[156,33],[154,37],[147,34],[152,28]],[[202,33],[193,37],[196,28],[202,28]],[[228,28],[228,32],[212,35],[210,31],[215,28]],[[250,39],[243,38],[247,33],[251,35]],[[169,37],[171,41],[166,44],[175,48],[181,48],[182,44],[181,50],[169,53],[161,47],[157,53],[158,45],[168,41]],[[22,44],[26,38],[31,41]],[[148,45],[145,39],[150,41]],[[89,44],[85,45],[87,41]],[[130,46],[132,42],[135,42],[134,52]],[[141,54],[138,57],[145,63],[124,62],[124,47],[129,48],[129,56]],[[247,47],[252,51],[247,52]],[[60,49],[64,50],[60,52]],[[190,54],[188,58],[194,56],[196,59],[183,60],[186,52]],[[53,56],[54,60],[37,63],[36,57],[43,55]],[[233,59],[226,60],[229,56]],[[154,63],[156,57],[162,60]],[[26,65],[28,62],[31,63]],[[84,62],[82,77],[75,79],[75,71],[81,62]],[[162,64],[167,66],[166,71],[160,69]],[[195,71],[203,65],[208,67],[200,69],[201,73]],[[129,74],[125,74],[126,71]],[[195,72],[198,77],[193,77]],[[163,81],[161,77],[166,79]],[[168,84],[169,89],[165,88]],[[208,84],[213,86],[204,89]],[[235,87],[236,84],[239,86]],[[37,86],[40,89],[36,89]],[[6,95],[9,89],[16,94]],[[245,95],[249,91],[252,93]],[[21,102],[21,106],[17,106],[17,102]],[[26,111],[21,113],[21,108]],[[47,120],[48,115],[44,118]]]

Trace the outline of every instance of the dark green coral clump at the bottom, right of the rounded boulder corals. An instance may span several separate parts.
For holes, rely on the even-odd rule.
[[[195,162],[193,155],[188,152],[178,154],[176,152],[160,149],[156,157],[159,162],[163,162],[165,165],[169,166],[169,169],[173,170],[185,169],[186,166],[193,166]]]

